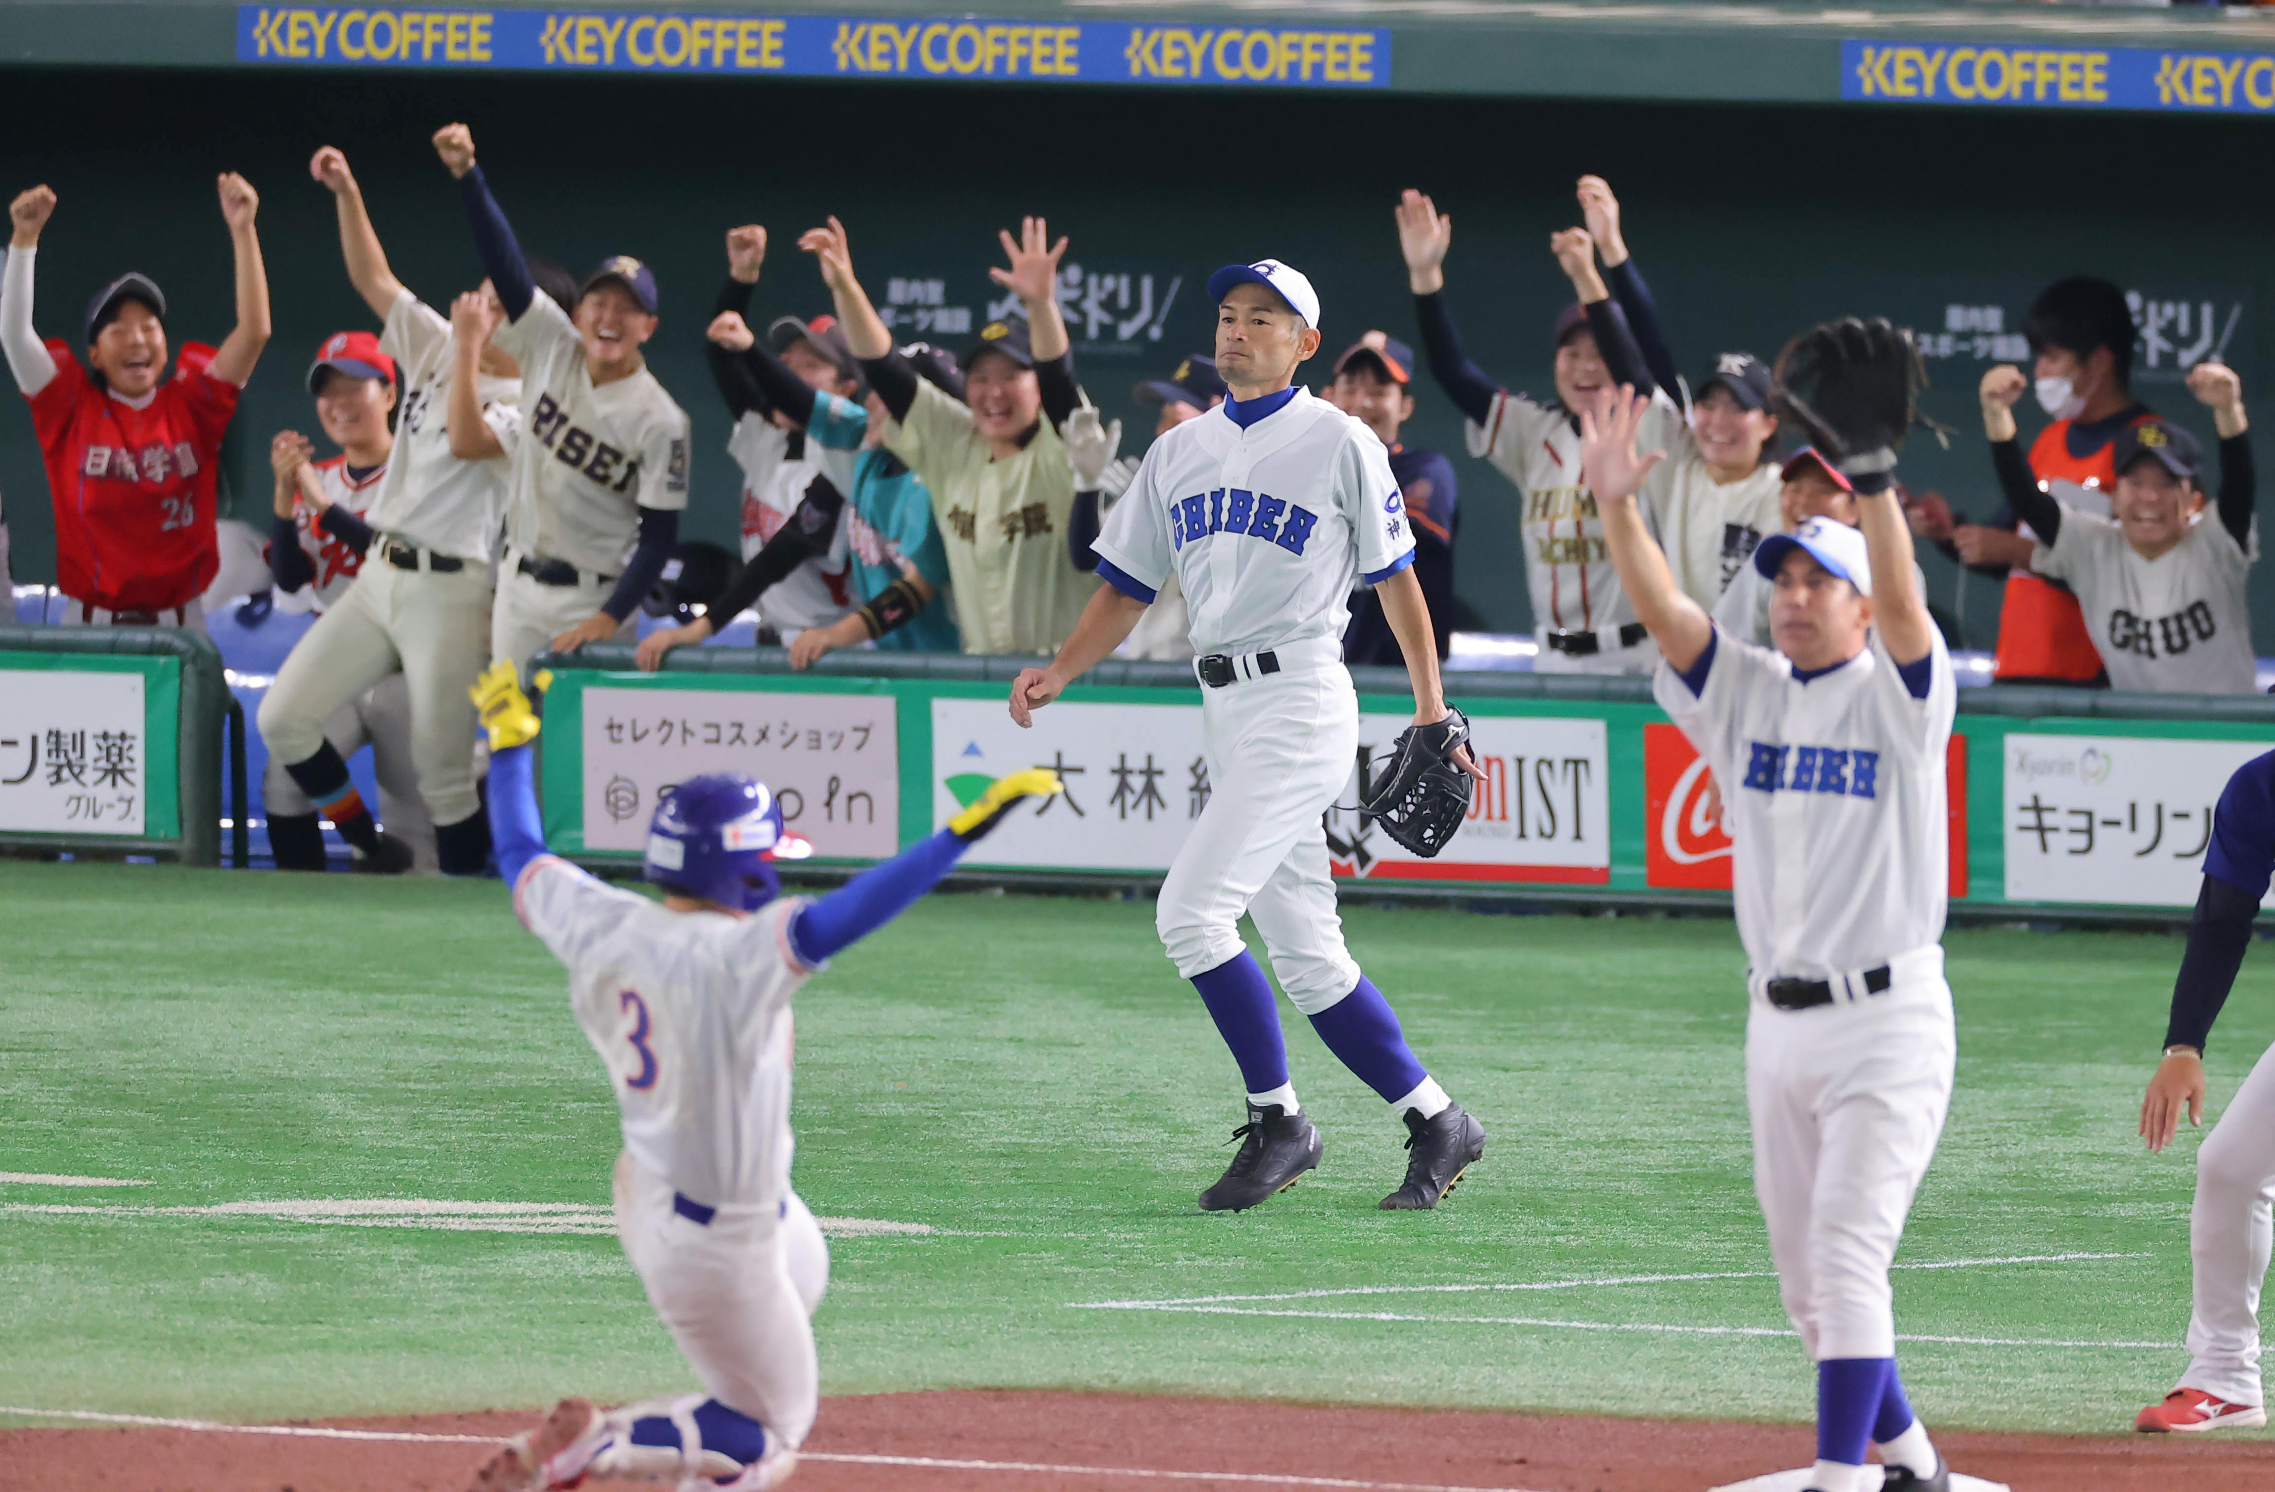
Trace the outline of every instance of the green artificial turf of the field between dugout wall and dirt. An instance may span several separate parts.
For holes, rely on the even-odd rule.
[[[16,862],[0,907],[0,1171],[152,1183],[0,1185],[0,1208],[607,1203],[605,1074],[496,882]],[[1806,1419],[1761,1276],[1731,926],[1354,907],[1347,928],[1492,1133],[1438,1212],[1374,1210],[1404,1130],[1285,1008],[1326,1162],[1254,1212],[1194,1208],[1240,1085],[1147,903],[933,896],[839,955],[799,998],[799,1190],[940,1233],[833,1240],[826,1392]],[[2134,1137],[2182,944],[1947,946],[1959,1092],[1902,1262],[2136,1258],[1897,1274],[1900,1333],[2029,1342],[1911,1342],[1906,1383],[1929,1424],[2120,1431],[2184,1360],[2195,1135],[2161,1158]],[[2255,955],[2214,1110],[2275,1037],[2270,983]],[[1749,1278],[1606,1283],[1668,1274]],[[1586,1285],[1522,1290],[1561,1280]],[[1370,1294],[1297,1294],[1335,1290]],[[1081,1308],[1185,1296],[1290,1299]],[[7,1406],[287,1417],[689,1385],[601,1235],[5,1210],[0,1342]]]

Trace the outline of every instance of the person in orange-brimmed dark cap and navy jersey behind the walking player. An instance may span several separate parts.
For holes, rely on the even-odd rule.
[[[1438,639],[1438,662],[1454,644],[1454,530],[1461,523],[1454,500],[1458,484],[1454,462],[1426,446],[1399,444],[1399,425],[1415,416],[1415,355],[1388,332],[1367,332],[1335,359],[1335,382],[1326,403],[1335,405],[1390,450],[1390,475],[1399,480],[1399,498],[1415,530],[1415,580],[1429,603],[1431,632]],[[1351,625],[1342,635],[1342,662],[1399,669],[1397,632],[1383,616],[1374,587],[1351,594]]]

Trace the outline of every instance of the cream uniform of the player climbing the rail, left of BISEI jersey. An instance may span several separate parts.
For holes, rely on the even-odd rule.
[[[462,823],[482,805],[466,689],[489,657],[491,564],[510,464],[503,457],[462,462],[450,455],[453,348],[450,323],[439,312],[400,291],[387,309],[380,350],[396,359],[403,403],[387,478],[364,512],[378,539],[355,585],[325,600],[323,616],[284,660],[262,701],[259,726],[271,769],[305,762],[325,735],[348,755],[330,721],[366,696],[400,696],[410,712],[416,796],[432,812],[412,842],[428,869],[435,860],[432,823]],[[512,441],[521,384],[485,378],[478,396],[482,418],[500,441]],[[457,569],[437,571],[437,557],[444,564],[455,560]],[[387,776],[380,787],[398,791]],[[278,796],[268,801],[278,803]],[[287,801],[305,796],[293,789]],[[382,817],[396,832],[398,812],[382,803]]]

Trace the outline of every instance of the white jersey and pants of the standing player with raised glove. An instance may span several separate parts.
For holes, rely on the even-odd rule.
[[[1906,680],[1872,632],[1797,682],[1781,653],[1718,630],[1697,691],[1668,664],[1654,680],[1722,785],[1749,964],[1754,1192],[1786,1315],[1820,1362],[1895,1356],[1888,1265],[1952,1099],[1941,937],[1956,691],[1941,637],[1922,662]],[[1834,998],[1781,1010],[1772,978],[1827,980]]]

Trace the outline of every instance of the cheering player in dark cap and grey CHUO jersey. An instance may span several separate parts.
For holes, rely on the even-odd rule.
[[[2063,507],[2027,484],[2011,484],[2016,512],[2038,534],[2032,569],[2075,591],[2111,687],[2255,694],[2259,664],[2243,582],[2259,537],[2243,380],[2204,362],[2189,373],[2189,391],[2220,432],[2216,514],[2200,512],[2202,446],[2161,418],[2118,432],[2109,516]]]

